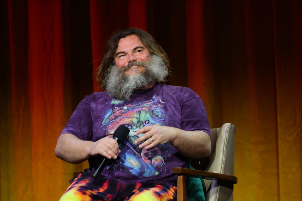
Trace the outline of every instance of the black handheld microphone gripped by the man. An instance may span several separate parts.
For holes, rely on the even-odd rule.
[[[122,142],[125,141],[129,132],[130,132],[129,128],[127,128],[124,125],[120,125],[113,133],[113,139],[115,139],[117,141],[117,143],[120,145]],[[107,160],[108,160],[108,158],[103,156],[103,160],[101,160],[101,162],[98,163],[98,166],[96,167],[96,169],[94,170],[94,172],[92,174],[93,178],[98,177],[98,175],[102,171],[103,166],[105,165]]]

